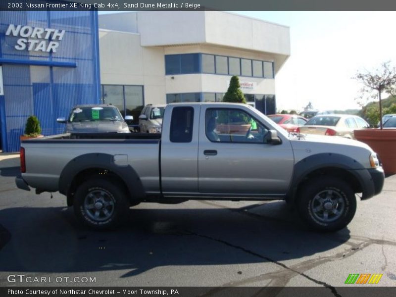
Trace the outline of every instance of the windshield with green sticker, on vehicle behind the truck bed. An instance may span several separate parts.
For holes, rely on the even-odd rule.
[[[122,121],[115,107],[77,107],[71,111],[69,122]]]

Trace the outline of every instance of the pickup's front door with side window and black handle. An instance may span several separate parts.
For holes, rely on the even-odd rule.
[[[294,155],[290,141],[265,142],[268,128],[246,107],[202,105],[198,149],[198,190],[207,196],[283,196]]]

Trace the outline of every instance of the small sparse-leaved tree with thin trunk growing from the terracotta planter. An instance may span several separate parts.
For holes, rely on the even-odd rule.
[[[353,79],[360,82],[363,87],[360,89],[360,96],[356,99],[360,106],[363,106],[362,100],[375,99],[378,96],[379,101],[379,120],[382,129],[382,103],[381,93],[386,92],[394,95],[396,92],[396,68],[391,67],[390,62],[384,62],[380,68],[375,71],[365,70],[364,72],[356,72]],[[372,111],[372,110],[370,110]]]

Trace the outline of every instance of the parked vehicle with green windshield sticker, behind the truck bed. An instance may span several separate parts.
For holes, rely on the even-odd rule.
[[[125,118],[133,119],[130,115]],[[77,105],[67,120],[57,118],[56,121],[66,124],[65,133],[130,133],[120,111],[111,104]]]

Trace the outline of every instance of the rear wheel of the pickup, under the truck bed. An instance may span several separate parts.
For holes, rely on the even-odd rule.
[[[77,188],[73,206],[81,223],[95,230],[105,230],[118,226],[125,219],[129,203],[122,185],[93,178]]]

